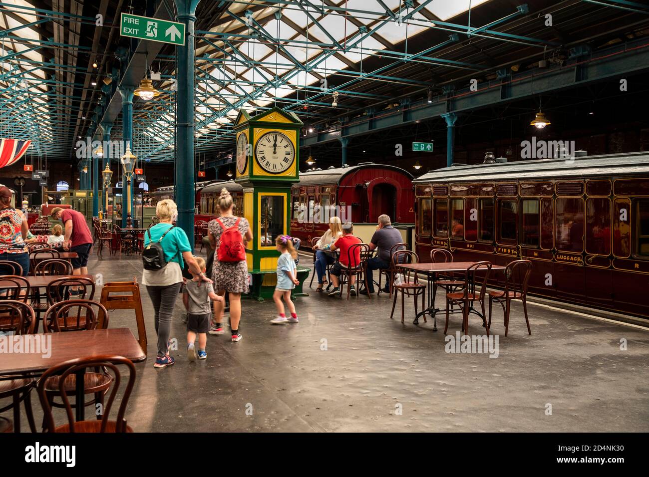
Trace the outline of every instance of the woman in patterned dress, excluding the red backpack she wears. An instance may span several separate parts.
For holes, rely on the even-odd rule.
[[[221,190],[219,197],[219,209],[221,216],[219,220],[225,227],[232,227],[239,220],[238,229],[243,238],[243,245],[252,240],[252,232],[248,221],[243,217],[236,217],[232,214],[234,201],[232,195],[226,188]],[[241,319],[241,293],[248,293],[248,264],[245,260],[241,262],[219,262],[219,245],[221,244],[221,234],[223,228],[215,220],[208,224],[208,237],[210,244],[214,249],[214,265],[212,267],[212,280],[214,280],[214,289],[223,296],[228,292],[230,299],[230,328],[232,328],[232,341],[239,341],[239,320]],[[210,328],[210,334],[223,334],[223,303],[214,302],[214,319]]]

